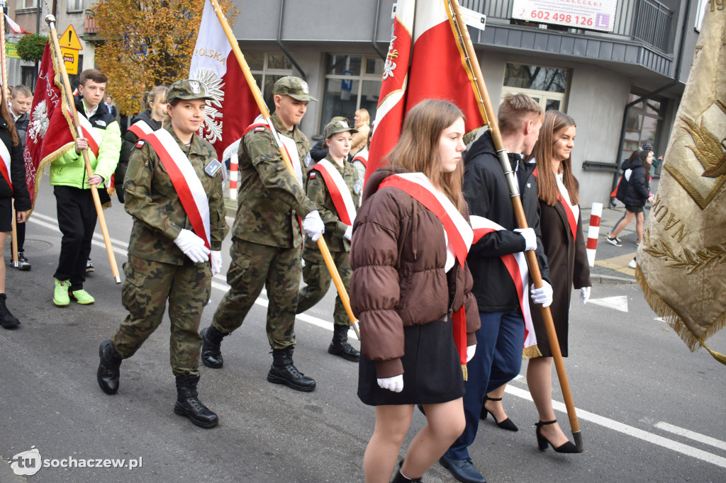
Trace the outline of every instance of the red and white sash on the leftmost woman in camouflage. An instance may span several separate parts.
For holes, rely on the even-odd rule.
[[[166,168],[195,234],[203,238],[205,246],[211,249],[209,200],[192,163],[166,129],[162,128],[148,134],[145,141],[151,144],[161,164]]]

